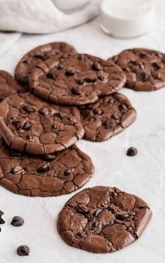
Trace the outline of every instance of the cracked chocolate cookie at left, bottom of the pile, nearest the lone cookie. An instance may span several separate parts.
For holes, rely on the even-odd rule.
[[[76,147],[32,156],[11,150],[0,139],[0,185],[24,196],[59,196],[82,187],[93,175],[87,154]]]

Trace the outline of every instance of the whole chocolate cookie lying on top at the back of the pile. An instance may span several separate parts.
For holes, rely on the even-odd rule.
[[[124,86],[125,75],[114,62],[92,55],[67,55],[45,60],[29,75],[31,90],[57,104],[93,103]]]

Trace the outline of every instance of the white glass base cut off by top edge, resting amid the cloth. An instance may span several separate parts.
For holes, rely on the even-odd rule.
[[[89,0],[52,0],[55,6],[60,10],[70,13],[83,8]]]

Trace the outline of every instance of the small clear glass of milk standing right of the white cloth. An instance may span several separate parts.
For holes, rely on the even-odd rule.
[[[118,38],[140,36],[148,32],[154,18],[154,0],[104,0],[101,4],[101,28]]]

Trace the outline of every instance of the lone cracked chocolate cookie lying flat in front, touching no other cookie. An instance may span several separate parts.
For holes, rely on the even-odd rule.
[[[63,240],[95,253],[115,252],[136,241],[152,212],[145,201],[115,187],[94,187],[73,196],[59,213]]]

